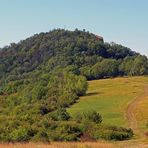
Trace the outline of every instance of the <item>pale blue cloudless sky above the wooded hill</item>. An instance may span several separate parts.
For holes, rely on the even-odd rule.
[[[148,55],[148,0],[0,0],[0,47],[54,28],[86,29]]]

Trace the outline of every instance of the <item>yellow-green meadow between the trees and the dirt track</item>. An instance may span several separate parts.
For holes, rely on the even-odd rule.
[[[106,124],[127,126],[127,105],[143,92],[148,77],[94,80],[88,84],[87,94],[68,109],[71,116],[92,109],[102,115]]]

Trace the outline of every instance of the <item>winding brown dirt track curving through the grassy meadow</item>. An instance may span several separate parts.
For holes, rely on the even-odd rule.
[[[144,88],[144,92],[136,97],[131,103],[129,103],[127,110],[126,110],[126,117],[129,123],[129,127],[134,131],[135,135],[138,136],[138,139],[144,139],[144,133],[138,128],[137,119],[134,114],[135,107],[142,99],[148,96],[148,86]]]

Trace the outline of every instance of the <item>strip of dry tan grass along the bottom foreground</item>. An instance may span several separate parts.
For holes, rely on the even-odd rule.
[[[120,142],[51,142],[51,143],[8,143],[0,144],[0,148],[147,148],[147,141]]]

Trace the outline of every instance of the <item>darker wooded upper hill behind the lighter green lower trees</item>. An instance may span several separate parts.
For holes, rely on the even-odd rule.
[[[0,78],[21,79],[34,71],[70,68],[88,79],[147,74],[147,58],[85,31],[57,29],[0,51]],[[28,75],[27,75],[28,76]]]

